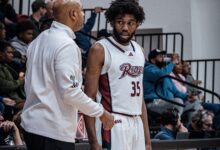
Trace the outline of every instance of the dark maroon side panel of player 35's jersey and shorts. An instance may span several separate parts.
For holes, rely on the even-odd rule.
[[[112,112],[112,97],[109,85],[108,74],[101,75],[99,78],[99,91],[102,95],[101,104],[103,107]],[[102,126],[102,148],[111,149],[111,130],[107,131]]]

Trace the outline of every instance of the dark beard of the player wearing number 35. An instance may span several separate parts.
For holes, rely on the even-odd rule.
[[[122,33],[123,32],[116,31],[115,27],[113,28],[113,35],[114,35],[116,41],[121,43],[121,44],[128,44],[131,41],[131,39],[133,38],[134,34],[135,34],[135,32],[133,32],[131,34],[128,34],[129,37],[125,39],[125,38],[121,37]]]

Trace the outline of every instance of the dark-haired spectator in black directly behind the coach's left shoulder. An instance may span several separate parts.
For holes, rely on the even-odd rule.
[[[46,4],[42,0],[35,0],[31,5],[33,14],[30,16],[30,20],[35,25],[34,30],[34,38],[40,33],[40,26],[41,26],[41,18],[46,13]]]

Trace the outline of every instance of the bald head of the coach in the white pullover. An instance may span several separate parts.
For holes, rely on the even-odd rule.
[[[80,0],[54,0],[53,15],[57,22],[78,31],[83,26],[84,13]]]

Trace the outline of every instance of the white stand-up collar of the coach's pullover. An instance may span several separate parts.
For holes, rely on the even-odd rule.
[[[72,39],[76,38],[75,33],[72,31],[72,29],[70,29],[70,27],[66,26],[65,24],[53,21],[51,28],[61,29],[65,31]]]

